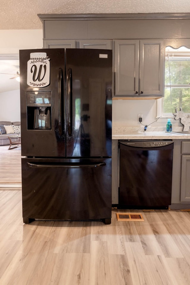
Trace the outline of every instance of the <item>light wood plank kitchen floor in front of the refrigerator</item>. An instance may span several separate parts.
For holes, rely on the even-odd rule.
[[[0,190],[0,285],[189,285],[190,212],[145,221],[23,224],[20,190]],[[134,210],[133,210],[134,212]]]

